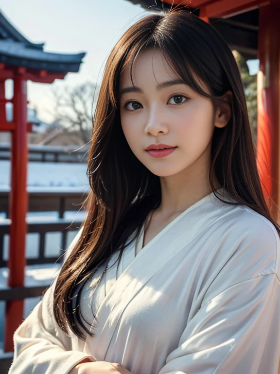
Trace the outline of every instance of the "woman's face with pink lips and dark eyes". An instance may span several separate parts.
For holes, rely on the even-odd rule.
[[[124,136],[140,162],[161,177],[209,168],[214,126],[226,125],[218,116],[215,122],[209,98],[178,79],[160,52],[148,50],[135,61],[133,80],[137,88],[132,87],[128,70],[120,80]],[[209,93],[203,83],[199,84]],[[173,151],[147,150],[158,144],[173,147]]]

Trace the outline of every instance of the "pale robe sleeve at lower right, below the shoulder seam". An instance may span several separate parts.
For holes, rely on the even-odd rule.
[[[203,305],[158,374],[277,374],[279,360],[280,281],[268,274]]]

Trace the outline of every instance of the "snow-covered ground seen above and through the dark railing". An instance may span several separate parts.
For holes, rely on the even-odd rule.
[[[11,163],[8,160],[0,161],[0,191],[10,190],[10,169]],[[30,162],[28,164],[27,190],[29,192],[85,192],[89,189],[87,177],[87,164],[84,163],[50,163],[50,162]],[[65,212],[65,219],[70,222],[82,220],[83,212]],[[4,220],[5,214],[0,212],[0,221]],[[59,221],[58,212],[30,212],[27,221],[46,220]],[[67,233],[67,246],[78,231],[71,230]],[[38,256],[39,235],[37,233],[27,234],[26,237],[26,257],[34,258]],[[61,233],[50,232],[46,235],[46,257],[59,255],[61,243]],[[8,258],[9,237],[4,237],[3,258]],[[57,275],[60,264],[50,263],[42,265],[29,265],[25,268],[26,285],[48,285]],[[9,275],[8,268],[0,268],[0,288],[7,285]],[[41,297],[25,299],[24,316],[26,318],[33,310]],[[0,301],[0,351],[3,342],[3,325],[5,315],[5,302]]]

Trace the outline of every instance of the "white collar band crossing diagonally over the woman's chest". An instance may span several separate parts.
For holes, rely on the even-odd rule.
[[[224,188],[219,188],[224,200],[234,201],[227,195]],[[197,235],[213,224],[217,218],[217,209],[227,204],[218,200],[214,193],[203,197],[187,208],[171,223],[163,228],[149,243],[135,256],[135,243],[129,256],[134,258],[117,279],[116,271],[108,272],[107,281],[113,284],[102,300],[90,331],[94,337],[88,335],[84,352],[96,355],[98,360],[105,360],[105,355],[121,318],[123,310],[140,289],[166,265],[180,250],[190,243]],[[140,233],[138,245],[142,245],[143,230]],[[112,256],[115,262],[117,253]],[[106,281],[106,282],[107,282]]]

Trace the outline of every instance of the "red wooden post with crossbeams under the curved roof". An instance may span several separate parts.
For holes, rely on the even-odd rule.
[[[26,213],[28,194],[26,191],[27,177],[27,132],[32,131],[32,124],[27,123],[27,80],[52,83],[55,78],[63,79],[64,74],[49,74],[40,70],[28,72],[24,67],[6,68],[0,63],[0,131],[10,131],[12,134],[11,153],[11,191],[9,218],[9,279],[8,286],[24,286],[25,238],[27,233]],[[11,100],[5,98],[5,80],[14,80],[14,96]],[[6,103],[13,104],[13,122],[6,120]],[[22,322],[24,299],[11,300],[6,304],[6,322],[4,331],[4,352],[13,352],[13,333]]]

